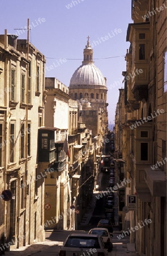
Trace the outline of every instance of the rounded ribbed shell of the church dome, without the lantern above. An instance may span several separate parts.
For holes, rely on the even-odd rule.
[[[82,64],[71,77],[70,85],[104,85],[105,80],[99,68],[93,63]]]

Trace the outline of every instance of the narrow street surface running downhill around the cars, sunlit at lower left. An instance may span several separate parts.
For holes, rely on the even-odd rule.
[[[109,174],[101,173],[99,174],[99,180],[101,182],[100,189],[101,191],[105,191],[106,187],[108,185],[109,180]],[[101,192],[99,191],[99,192]],[[98,195],[98,193],[94,194]],[[117,204],[117,193],[115,193],[115,205]],[[117,208],[114,208],[114,220],[117,221]],[[95,209],[93,211],[91,220],[89,221],[88,225],[79,226],[79,230],[75,230],[73,233],[87,233],[89,229],[95,228],[97,226],[97,223],[102,218],[105,218],[105,196],[102,196],[100,199],[96,200]],[[129,237],[123,238],[121,240],[118,239],[119,228],[118,226],[113,226],[114,232],[113,232],[113,250],[111,253],[108,253],[108,256],[134,256],[136,254],[132,253],[126,253],[127,251],[127,243],[129,243]],[[18,255],[24,255],[24,256],[46,256],[46,254],[52,256],[58,256],[58,251],[61,245],[63,244],[63,241],[65,241],[68,234],[72,233],[71,230],[47,230],[45,232],[45,242],[39,242],[35,243],[34,245],[30,245],[27,247],[22,247],[17,250],[13,251],[7,251],[6,255],[11,256],[18,256]]]

